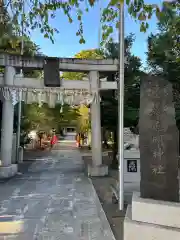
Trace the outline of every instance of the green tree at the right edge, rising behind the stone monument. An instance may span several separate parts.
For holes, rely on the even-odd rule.
[[[150,73],[166,78],[173,84],[176,122],[180,130],[180,6],[171,10],[171,18],[164,15],[158,22],[158,33],[148,38]]]

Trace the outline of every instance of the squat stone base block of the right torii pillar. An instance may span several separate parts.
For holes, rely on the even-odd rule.
[[[108,175],[108,166],[100,165],[94,166],[91,164],[87,164],[85,166],[85,172],[89,177],[103,177]]]

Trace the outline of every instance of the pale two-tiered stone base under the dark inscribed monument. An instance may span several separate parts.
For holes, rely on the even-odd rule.
[[[179,240],[180,203],[143,199],[134,193],[124,220],[124,240]]]

